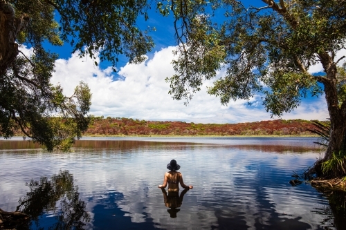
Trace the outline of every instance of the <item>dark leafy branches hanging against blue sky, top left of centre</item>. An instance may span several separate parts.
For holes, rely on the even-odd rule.
[[[138,63],[144,61],[143,55],[154,47],[148,31],[136,26],[138,16],[148,19],[146,0],[44,2],[59,12],[62,39],[79,50],[82,57],[95,57],[98,52],[101,61],[115,65],[118,55],[123,54],[130,62]]]

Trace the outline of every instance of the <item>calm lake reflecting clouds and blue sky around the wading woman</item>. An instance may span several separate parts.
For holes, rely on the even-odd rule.
[[[17,229],[343,229],[345,193],[289,184],[319,157],[313,141],[84,137],[46,153],[2,139],[0,208],[30,214]],[[158,189],[172,159],[194,189]]]

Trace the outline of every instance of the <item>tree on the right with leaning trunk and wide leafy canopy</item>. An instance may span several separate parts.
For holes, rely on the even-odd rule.
[[[226,73],[208,93],[230,100],[263,95],[263,104],[280,116],[299,106],[302,97],[325,93],[331,132],[324,160],[343,146],[346,133],[345,66],[336,53],[345,48],[346,1],[280,0],[171,1],[179,48],[176,75],[167,78],[174,99],[192,98],[204,79]],[[224,21],[213,21],[215,14]],[[318,61],[325,73],[308,70]],[[320,84],[318,84],[320,83]],[[322,87],[321,87],[322,85]]]

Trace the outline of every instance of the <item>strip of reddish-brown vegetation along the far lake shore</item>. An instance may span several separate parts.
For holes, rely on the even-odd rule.
[[[93,117],[84,135],[313,135],[315,126],[302,119],[275,119],[239,124],[152,122],[131,118]]]

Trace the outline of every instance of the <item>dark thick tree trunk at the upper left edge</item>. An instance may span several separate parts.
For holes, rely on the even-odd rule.
[[[28,25],[26,15],[15,17],[15,10],[5,0],[0,0],[0,76],[6,73],[18,55],[17,35]]]

